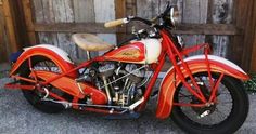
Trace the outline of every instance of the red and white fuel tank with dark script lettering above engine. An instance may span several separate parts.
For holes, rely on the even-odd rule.
[[[152,64],[157,62],[161,50],[161,40],[143,39],[113,50],[106,53],[104,58],[124,63]]]

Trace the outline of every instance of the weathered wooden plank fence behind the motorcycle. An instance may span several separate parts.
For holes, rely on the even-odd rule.
[[[104,22],[127,15],[152,18],[163,12],[166,1],[22,0],[17,3],[23,11],[29,44],[50,43],[64,49],[73,58],[85,58],[85,52],[71,41],[72,34],[92,32],[110,43],[118,43],[131,26],[106,29]],[[182,35],[187,45],[209,42],[214,54],[228,57],[246,70],[253,68],[251,59],[255,49],[248,41],[253,42],[255,30],[248,29],[255,29],[254,0],[170,1],[179,6],[182,15],[181,25],[172,32]]]

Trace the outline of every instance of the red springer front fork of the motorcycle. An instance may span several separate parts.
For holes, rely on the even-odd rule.
[[[168,44],[167,45],[167,54],[174,65],[175,71],[178,76],[178,78],[181,80],[183,85],[188,89],[188,91],[194,95],[199,100],[202,102],[202,105],[210,105],[216,99],[216,93],[217,89],[219,86],[220,81],[223,78],[223,73],[220,75],[218,80],[215,82],[212,77],[212,70],[210,70],[210,63],[208,59],[208,54],[210,52],[210,46],[208,43],[204,44],[197,44],[188,49],[182,50],[181,52],[176,48],[175,43],[165,35],[163,35],[163,41]],[[207,66],[207,73],[209,78],[209,84],[210,84],[210,96],[207,99],[202,92],[201,88],[196,83],[197,81],[193,77],[193,73],[191,72],[188,64],[183,59],[184,56],[187,56],[189,53],[197,51],[200,49],[204,49],[204,55],[205,55],[205,65]],[[179,64],[178,64],[179,62]],[[187,73],[189,76],[189,79],[191,80],[190,83],[187,82],[187,78],[184,76]],[[196,104],[196,106],[200,104]]]

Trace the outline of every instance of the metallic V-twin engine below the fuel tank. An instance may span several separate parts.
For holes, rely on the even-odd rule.
[[[111,104],[128,106],[144,93],[146,80],[143,65],[104,62],[95,71],[97,86],[105,90]]]

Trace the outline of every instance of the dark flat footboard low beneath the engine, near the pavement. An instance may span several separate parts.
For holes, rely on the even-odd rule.
[[[138,119],[140,117],[139,112],[123,113],[123,115],[107,115],[104,118],[108,120],[125,120],[125,119]]]

